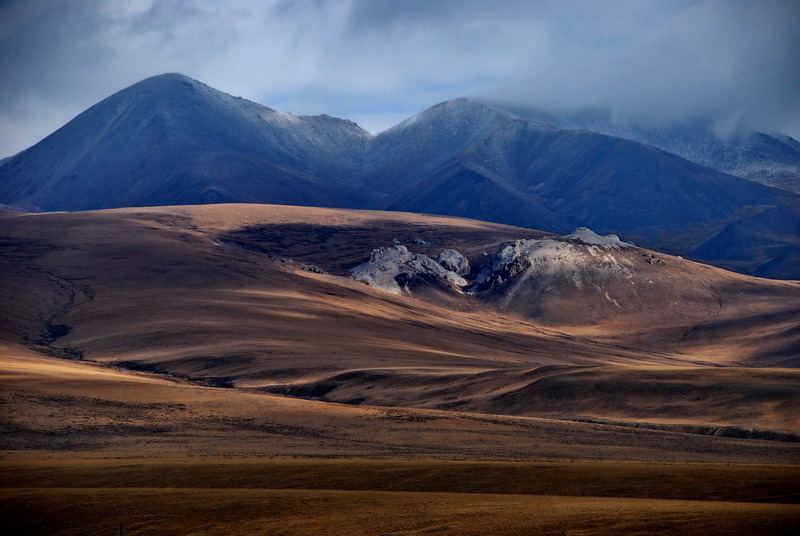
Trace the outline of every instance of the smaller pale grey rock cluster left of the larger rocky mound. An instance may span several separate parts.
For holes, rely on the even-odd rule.
[[[417,284],[446,284],[464,287],[467,280],[447,270],[427,255],[411,253],[395,245],[372,251],[367,262],[353,268],[352,277],[367,285],[394,294],[407,293]]]

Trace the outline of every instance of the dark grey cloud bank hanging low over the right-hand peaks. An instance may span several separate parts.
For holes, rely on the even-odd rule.
[[[648,15],[627,28],[603,14],[573,19],[545,58],[493,94],[549,109],[606,107],[623,119],[706,115],[721,131],[797,132],[800,4],[705,1]]]

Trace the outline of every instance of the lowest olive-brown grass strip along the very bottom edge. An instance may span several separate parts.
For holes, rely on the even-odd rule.
[[[147,488],[0,497],[13,534],[788,535],[800,522],[798,505],[602,497]]]

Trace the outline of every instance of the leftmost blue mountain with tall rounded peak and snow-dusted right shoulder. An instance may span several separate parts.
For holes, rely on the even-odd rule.
[[[370,135],[281,114],[178,74],[92,106],[0,168],[0,199],[42,210],[264,201],[353,205]]]

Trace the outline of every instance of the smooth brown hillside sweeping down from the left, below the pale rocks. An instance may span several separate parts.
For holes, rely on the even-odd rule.
[[[237,218],[239,210],[119,210],[7,220],[5,269],[22,274],[8,285],[6,299],[19,309],[9,322],[20,324],[10,326],[8,336],[49,340],[49,329],[57,336],[51,346],[87,359],[149,363],[192,377],[689,359],[574,339],[467,301],[464,311],[457,310],[458,302],[445,309],[221,245],[203,218]],[[260,210],[265,220],[281,211],[250,210]],[[307,221],[303,212],[296,216]],[[368,257],[369,245],[359,247]],[[33,289],[50,294],[29,300]]]

